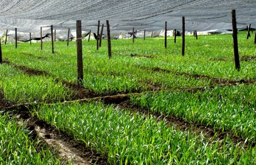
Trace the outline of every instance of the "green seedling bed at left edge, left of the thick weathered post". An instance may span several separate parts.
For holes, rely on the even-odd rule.
[[[66,100],[72,90],[52,77],[29,76],[7,64],[0,65],[0,89],[10,103]]]

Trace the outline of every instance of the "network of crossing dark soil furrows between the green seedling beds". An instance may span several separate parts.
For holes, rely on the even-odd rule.
[[[33,56],[29,53],[21,53],[25,56]],[[125,55],[129,56],[129,55]],[[33,56],[34,57],[34,56]],[[130,58],[149,58],[153,59],[151,55],[133,55],[130,54]],[[38,59],[46,60],[45,57],[37,56]],[[210,58],[211,61],[228,61],[226,58]],[[254,57],[244,57],[242,61],[251,61],[255,60]],[[107,165],[108,159],[107,156],[102,156],[99,152],[93,147],[86,147],[85,143],[81,139],[70,135],[62,129],[57,129],[54,124],[50,124],[45,120],[40,119],[35,114],[37,110],[41,110],[41,107],[53,108],[55,104],[61,105],[70,105],[74,104],[83,104],[90,102],[103,102],[107,106],[113,106],[114,108],[120,111],[129,111],[131,120],[132,114],[140,114],[145,119],[150,119],[153,116],[156,123],[161,123],[164,121],[165,127],[174,127],[176,130],[188,131],[190,134],[204,134],[204,138],[212,139],[209,143],[215,144],[216,141],[221,141],[225,139],[230,139],[234,146],[238,148],[243,148],[244,150],[255,147],[255,141],[247,141],[246,138],[240,134],[233,133],[230,129],[221,128],[218,129],[211,124],[205,122],[192,122],[187,120],[185,117],[179,117],[178,115],[171,115],[167,113],[162,113],[157,110],[149,110],[147,106],[143,104],[134,103],[137,95],[146,94],[150,97],[150,93],[154,94],[157,92],[178,92],[178,93],[197,93],[214,91],[216,88],[221,89],[225,87],[235,87],[239,85],[249,86],[255,84],[255,79],[237,79],[230,80],[225,78],[216,78],[209,75],[198,74],[198,73],[186,73],[179,71],[171,71],[168,69],[162,69],[156,66],[136,66],[136,69],[141,71],[149,71],[152,74],[157,73],[168,73],[175,76],[186,76],[189,79],[196,79],[198,81],[207,81],[208,85],[205,86],[196,86],[196,87],[182,87],[182,88],[170,88],[164,86],[161,83],[153,83],[150,81],[145,81],[145,87],[147,88],[138,88],[133,89],[128,92],[94,92],[91,89],[85,88],[84,85],[75,84],[72,82],[65,81],[48,73],[47,71],[31,69],[25,65],[18,65],[15,62],[9,61],[7,58],[4,59],[3,65],[8,65],[14,69],[21,71],[23,74],[28,76],[44,76],[46,78],[51,78],[56,84],[62,84],[65,88],[68,89],[66,99],[60,99],[60,101],[54,102],[53,100],[44,100],[42,102],[32,101],[32,102],[7,102],[4,99],[4,92],[0,92],[0,109],[4,110],[3,113],[10,113],[13,118],[17,118],[19,121],[25,120],[27,122],[27,128],[31,131],[30,136],[32,139],[39,138],[47,146],[52,146],[57,148],[59,151],[59,156],[62,160],[67,162],[73,160],[74,165]],[[118,76],[118,73],[110,73],[111,76]],[[143,80],[140,80],[143,81]],[[221,98],[220,98],[221,99]],[[142,100],[142,99],[140,99]],[[58,102],[58,103],[57,103]],[[150,123],[151,124],[151,123]],[[75,127],[75,126],[73,126]],[[116,158],[118,159],[118,158]],[[162,159],[162,158],[161,158]],[[237,158],[238,159],[238,158]],[[239,161],[239,159],[238,159]]]

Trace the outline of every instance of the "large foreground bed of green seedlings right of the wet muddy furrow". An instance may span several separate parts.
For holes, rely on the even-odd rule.
[[[255,147],[167,126],[101,102],[37,106],[31,113],[108,158],[111,165],[255,165]]]

